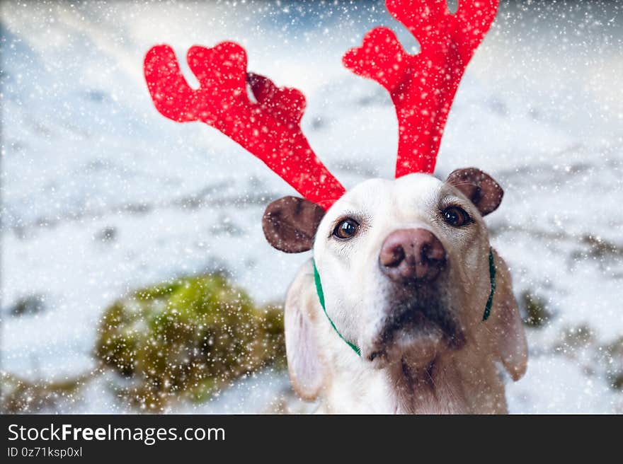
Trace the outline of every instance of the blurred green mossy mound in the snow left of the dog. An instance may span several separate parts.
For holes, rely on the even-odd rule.
[[[256,306],[220,274],[183,277],[107,308],[96,356],[128,379],[120,393],[148,410],[203,400],[252,371],[285,367],[283,311]]]

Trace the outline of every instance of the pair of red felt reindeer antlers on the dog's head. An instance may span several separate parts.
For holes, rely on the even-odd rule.
[[[372,29],[343,64],[387,88],[399,122],[396,178],[433,173],[443,128],[469,60],[496,16],[498,0],[386,0],[387,9],[421,45],[408,54],[388,28]],[[300,122],[304,95],[247,73],[246,52],[234,42],[192,47],[188,65],[200,87],[191,88],[168,45],[152,47],[145,80],[156,109],[176,122],[209,124],[260,158],[303,197],[324,209],[344,187],[316,157]],[[249,100],[249,84],[256,102]]]

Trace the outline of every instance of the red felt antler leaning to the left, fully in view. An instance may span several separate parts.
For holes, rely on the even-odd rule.
[[[147,52],[145,79],[162,115],[219,129],[324,209],[341,197],[344,187],[316,158],[301,130],[302,93],[247,74],[246,52],[234,42],[191,47],[188,65],[200,83],[197,90],[188,86],[171,47],[157,45]],[[257,103],[248,99],[246,83]]]

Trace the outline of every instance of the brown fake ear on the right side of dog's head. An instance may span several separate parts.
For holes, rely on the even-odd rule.
[[[478,168],[457,169],[446,182],[469,198],[483,216],[498,209],[504,196],[498,182]]]

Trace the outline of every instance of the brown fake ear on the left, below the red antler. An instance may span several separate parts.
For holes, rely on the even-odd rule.
[[[266,207],[262,228],[270,245],[285,253],[311,250],[324,209],[304,198],[283,197]]]

